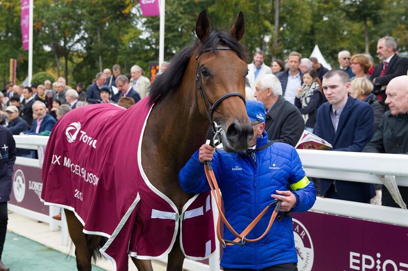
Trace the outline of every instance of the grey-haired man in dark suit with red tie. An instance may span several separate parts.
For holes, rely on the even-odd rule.
[[[373,81],[373,93],[377,95],[378,100],[384,105],[387,99],[386,87],[391,79],[405,75],[408,70],[408,58],[400,57],[395,52],[398,46],[392,37],[384,37],[378,40],[377,54],[381,63],[375,66],[371,74]],[[385,105],[384,111],[388,110]]]

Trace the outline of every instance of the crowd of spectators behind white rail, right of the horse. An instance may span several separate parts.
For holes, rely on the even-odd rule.
[[[303,130],[314,133],[341,152],[408,154],[408,58],[398,55],[392,37],[378,40],[380,63],[369,54],[338,53],[339,67],[328,70],[316,57],[289,53],[286,65],[257,51],[248,65],[246,98],[266,110],[269,140],[296,146]],[[389,110],[390,109],[390,110]],[[316,179],[318,194],[327,198],[398,205],[385,187],[344,180]],[[408,203],[408,189],[399,187]]]

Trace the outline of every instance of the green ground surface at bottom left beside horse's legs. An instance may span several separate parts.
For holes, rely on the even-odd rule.
[[[2,261],[12,271],[65,271],[77,269],[75,258],[13,232],[7,232]],[[92,266],[92,270],[102,271],[104,269]]]

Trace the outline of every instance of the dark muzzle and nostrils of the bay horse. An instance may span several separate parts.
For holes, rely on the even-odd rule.
[[[251,123],[242,124],[234,121],[226,129],[222,138],[223,148],[228,153],[244,152],[249,147],[249,141],[253,138]]]

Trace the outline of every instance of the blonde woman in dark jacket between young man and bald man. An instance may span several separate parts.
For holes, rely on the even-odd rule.
[[[373,84],[367,78],[355,78],[351,81],[351,96],[371,105],[374,111],[375,130],[377,130],[382,114],[384,113],[384,108],[382,108],[377,97],[371,93],[372,90]]]

